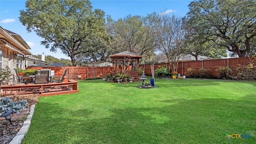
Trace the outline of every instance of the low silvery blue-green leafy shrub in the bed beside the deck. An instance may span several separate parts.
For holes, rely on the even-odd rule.
[[[0,100],[0,115],[7,111],[20,113],[21,110],[25,109],[26,105],[28,105],[27,100],[19,100],[18,102],[14,102],[9,97],[2,98]]]

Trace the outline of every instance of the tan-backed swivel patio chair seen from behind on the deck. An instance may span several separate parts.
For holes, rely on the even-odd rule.
[[[49,71],[36,70],[35,71],[35,84],[47,84],[49,83]],[[41,88],[40,88],[41,89]],[[40,92],[40,89],[35,90],[34,92]],[[49,92],[50,90],[46,90],[43,88],[44,92]]]

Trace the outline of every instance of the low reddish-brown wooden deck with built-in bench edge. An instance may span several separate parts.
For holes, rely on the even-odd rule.
[[[75,80],[66,80],[66,82],[48,84],[19,84],[11,86],[4,85],[1,87],[1,95],[9,96],[12,94],[35,94],[35,90],[38,90],[39,96],[70,94],[79,92],[79,90],[77,89],[77,85],[78,82]],[[62,86],[63,88],[59,88],[59,86]],[[44,92],[43,89],[47,91],[49,90],[49,92]]]

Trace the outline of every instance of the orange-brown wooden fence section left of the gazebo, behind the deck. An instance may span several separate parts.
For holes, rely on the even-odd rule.
[[[111,74],[112,67],[109,66],[41,66],[28,67],[27,69],[40,70],[41,68],[48,68],[54,70],[54,76],[62,76],[64,71],[68,69],[67,76],[69,79],[78,79],[78,75],[82,78],[96,78]]]

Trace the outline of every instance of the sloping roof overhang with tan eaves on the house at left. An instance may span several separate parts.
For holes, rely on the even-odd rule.
[[[10,33],[9,33],[10,32]],[[0,38],[1,44],[4,44],[6,47],[14,50],[20,54],[32,55],[28,49],[31,49],[28,44],[21,38],[20,35],[15,34],[9,30],[5,30],[0,26]]]

